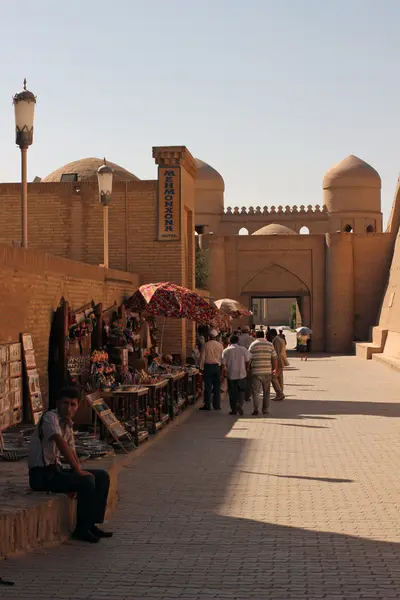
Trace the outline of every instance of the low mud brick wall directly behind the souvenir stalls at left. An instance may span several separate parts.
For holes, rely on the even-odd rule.
[[[133,273],[0,244],[0,344],[17,341],[22,332],[32,334],[46,398],[50,327],[60,299],[72,309],[91,300],[110,306],[138,287]]]

